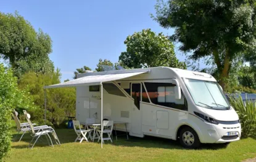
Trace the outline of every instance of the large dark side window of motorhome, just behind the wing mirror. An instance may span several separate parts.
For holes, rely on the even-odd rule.
[[[149,98],[154,104],[161,106],[167,106],[180,110],[188,110],[185,105],[184,96],[181,99],[175,99],[175,86],[172,83],[150,83],[145,82],[147,93],[149,93]]]

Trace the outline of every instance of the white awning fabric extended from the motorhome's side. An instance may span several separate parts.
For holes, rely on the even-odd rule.
[[[59,83],[56,85],[45,86],[44,88],[60,88],[60,87],[78,87],[78,86],[88,86],[88,85],[100,85],[103,82],[110,82],[114,80],[125,79],[128,77],[133,77],[134,75],[139,75],[146,73],[148,71],[142,72],[128,72],[122,74],[105,74],[105,75],[88,75],[78,79],[70,80],[68,82]]]

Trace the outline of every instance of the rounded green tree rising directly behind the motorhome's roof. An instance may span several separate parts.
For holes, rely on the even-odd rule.
[[[119,61],[130,68],[168,66],[186,69],[186,64],[176,58],[173,44],[162,33],[151,29],[128,36],[125,40],[126,52],[122,52]]]

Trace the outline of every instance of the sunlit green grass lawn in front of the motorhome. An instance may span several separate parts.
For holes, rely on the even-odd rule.
[[[47,145],[45,137],[33,149],[28,149],[31,137],[26,134],[21,142],[12,142],[5,161],[242,161],[256,156],[256,140],[243,139],[224,145],[207,144],[198,150],[186,150],[176,141],[156,137],[143,139],[118,137],[105,142],[103,149],[97,142],[75,141],[73,129],[57,129],[62,145]],[[115,139],[115,137],[114,137]]]

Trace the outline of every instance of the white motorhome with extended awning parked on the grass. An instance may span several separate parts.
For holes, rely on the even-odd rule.
[[[103,119],[128,123],[130,136],[178,139],[187,148],[241,136],[236,111],[209,74],[170,67],[89,72],[59,84],[70,86],[76,86],[76,119],[81,122],[101,120],[102,91]]]

